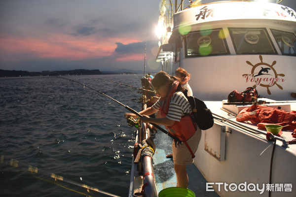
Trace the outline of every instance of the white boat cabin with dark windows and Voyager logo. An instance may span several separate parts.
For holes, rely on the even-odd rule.
[[[163,24],[169,27],[165,26],[156,61],[172,75],[179,66],[185,68],[194,96],[222,100],[233,90],[256,86],[261,97],[292,99],[296,91],[292,8],[219,1],[191,5]]]

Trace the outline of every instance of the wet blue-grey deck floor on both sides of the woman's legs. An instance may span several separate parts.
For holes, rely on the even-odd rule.
[[[166,158],[166,155],[172,153],[172,139],[165,133],[158,131],[154,137],[156,151],[154,159],[154,175],[157,192],[169,187],[176,187],[176,173],[174,170],[173,159]],[[195,158],[198,159],[198,158]],[[194,165],[187,165],[187,174],[189,178],[188,189],[192,190],[196,196],[201,197],[219,197],[216,192],[206,192],[206,180]]]

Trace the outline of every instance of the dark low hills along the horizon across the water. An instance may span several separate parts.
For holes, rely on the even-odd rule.
[[[99,75],[99,74],[134,74],[132,72],[113,71],[101,72],[99,69],[75,69],[75,70],[60,70],[60,71],[42,71],[42,72],[29,72],[23,70],[2,70],[0,69],[0,77],[25,77],[25,76],[59,76],[59,75]]]

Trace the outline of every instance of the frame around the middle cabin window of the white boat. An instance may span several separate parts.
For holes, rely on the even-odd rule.
[[[267,51],[266,52],[253,52],[253,53],[252,52],[240,52],[239,49],[237,49],[237,43],[235,42],[235,38],[234,38],[234,35],[233,35],[233,32],[232,32],[233,30],[242,30],[242,31],[250,30],[250,31],[253,31],[253,32],[255,32],[255,31],[260,31],[261,32],[261,31],[263,31],[263,33],[265,34],[264,38],[269,42],[270,49],[272,49],[274,52],[267,52]],[[232,44],[233,44],[236,55],[278,55],[278,52],[277,52],[277,50],[276,50],[276,48],[275,48],[275,46],[274,46],[274,44],[273,44],[273,42],[271,40],[271,37],[270,37],[269,33],[267,32],[266,28],[239,28],[239,27],[231,28],[231,27],[229,27],[228,32],[229,32],[229,35],[230,35],[230,38],[231,38],[231,41],[232,41]],[[254,46],[255,46],[255,45],[258,44],[257,46],[259,46],[259,49],[260,49],[262,43],[259,42],[260,41],[259,36],[256,35],[255,33],[253,33],[254,35],[256,35],[258,37],[258,40],[252,41],[252,40],[248,40],[248,38],[246,37],[246,34],[247,33],[245,33],[244,41],[247,43],[247,45],[250,44],[249,46],[252,46],[252,44],[254,44]],[[252,33],[250,33],[250,34],[252,34]]]

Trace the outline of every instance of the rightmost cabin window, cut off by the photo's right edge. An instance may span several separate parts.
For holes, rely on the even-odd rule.
[[[296,56],[296,36],[294,33],[271,30],[283,55]]]

